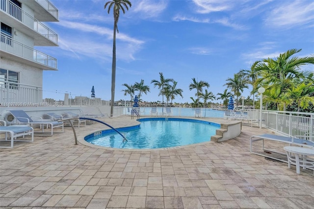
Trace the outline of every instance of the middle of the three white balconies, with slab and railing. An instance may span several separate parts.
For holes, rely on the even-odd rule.
[[[1,0],[1,22],[33,37],[35,46],[58,46],[58,35],[9,0]]]

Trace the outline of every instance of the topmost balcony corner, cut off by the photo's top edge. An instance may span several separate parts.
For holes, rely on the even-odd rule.
[[[20,0],[34,10],[34,17],[41,22],[58,21],[58,10],[49,0]]]

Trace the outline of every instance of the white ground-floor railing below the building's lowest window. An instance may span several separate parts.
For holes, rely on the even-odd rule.
[[[0,79],[0,106],[32,106],[42,98],[42,87]]]

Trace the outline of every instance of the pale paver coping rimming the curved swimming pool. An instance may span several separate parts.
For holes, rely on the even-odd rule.
[[[128,116],[121,116],[121,117],[125,117],[125,118],[130,118]],[[121,117],[115,117],[115,118],[121,118]],[[146,118],[156,118],[156,117],[142,117],[141,119],[146,119]],[[220,118],[191,118],[191,117],[168,117],[168,118],[178,118],[178,119],[188,119],[188,120],[199,120],[199,121],[204,121],[204,122],[210,122],[210,123],[213,123],[213,124],[218,124],[218,125],[223,125],[223,127],[225,126],[229,126],[229,125],[234,125],[234,124],[237,124],[237,122],[235,121],[232,121],[232,122],[226,122],[225,120],[223,120],[223,122],[219,122],[219,120],[222,120]],[[111,119],[111,118],[110,118]],[[112,118],[114,119],[114,118]],[[215,120],[218,120],[218,122],[213,122]],[[136,125],[139,125],[140,122],[138,122],[137,120],[135,119],[131,119],[131,121],[133,122],[133,124],[130,124],[130,125],[124,125],[124,126],[116,126],[114,127],[115,129],[120,129],[120,128],[126,128],[126,127],[133,127],[133,126],[136,126]],[[135,123],[136,122],[136,123]],[[240,122],[241,124],[241,122]],[[221,129],[221,128],[220,128]],[[220,130],[219,129],[219,130]],[[156,149],[119,149],[119,148],[111,148],[111,147],[103,147],[103,146],[98,146],[98,145],[94,145],[94,144],[91,144],[87,141],[85,141],[85,137],[89,134],[93,134],[97,131],[103,131],[103,130],[106,130],[104,128],[99,128],[99,129],[95,129],[93,131],[88,131],[88,132],[83,132],[83,133],[80,133],[78,134],[78,142],[80,144],[83,144],[85,146],[88,146],[88,147],[93,147],[93,148],[96,148],[96,149],[105,149],[105,150],[110,150],[110,151],[120,151],[120,152],[132,152],[132,151],[140,151],[140,152],[147,152],[147,151],[150,151],[150,152],[154,152],[154,151],[166,151],[166,150],[173,150],[173,149],[183,149],[183,148],[188,148],[188,147],[195,147],[195,146],[200,146],[200,145],[204,145],[206,143],[215,143],[217,141],[206,141],[206,142],[201,142],[201,143],[196,143],[196,144],[189,144],[189,145],[183,145],[183,146],[176,146],[176,147],[169,147],[169,148],[156,148]],[[239,131],[241,133],[241,130]],[[217,134],[217,131],[216,131],[216,134]],[[236,137],[236,136],[235,136]],[[235,138],[235,137],[232,137],[232,138]],[[232,138],[229,138],[229,139],[232,139]],[[228,140],[228,139],[224,139],[224,140]]]

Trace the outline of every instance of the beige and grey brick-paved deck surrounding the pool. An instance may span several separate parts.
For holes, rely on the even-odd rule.
[[[129,116],[104,121],[138,124]],[[0,208],[313,208],[312,170],[301,168],[298,175],[293,165],[249,152],[250,136],[271,130],[242,126],[231,140],[161,150],[106,149],[82,140],[101,129],[76,128],[78,145],[65,128],[0,149]]]

